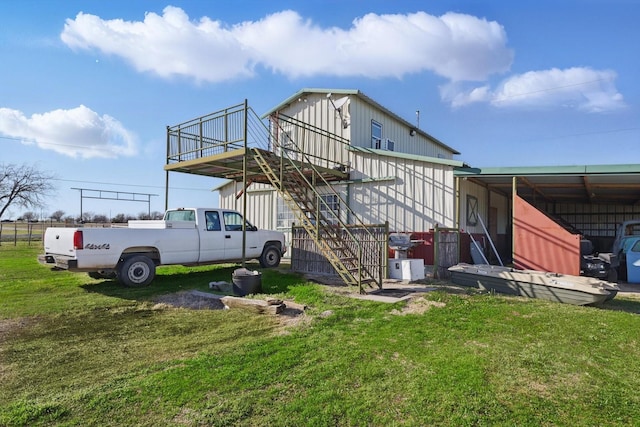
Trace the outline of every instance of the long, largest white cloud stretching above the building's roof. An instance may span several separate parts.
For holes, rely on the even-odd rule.
[[[254,74],[256,66],[288,77],[401,77],[432,71],[449,80],[481,81],[513,60],[503,27],[470,15],[424,12],[367,14],[348,29],[321,28],[283,11],[226,25],[192,21],[168,6],[143,21],[103,20],[79,13],[61,39],[71,48],[120,56],[138,71],[220,82]]]

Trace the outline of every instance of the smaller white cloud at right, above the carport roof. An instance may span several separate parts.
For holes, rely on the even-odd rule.
[[[486,85],[473,89],[445,85],[441,96],[454,108],[484,102],[496,108],[569,108],[599,113],[625,107],[615,87],[616,77],[610,70],[553,68],[509,77],[495,90]]]

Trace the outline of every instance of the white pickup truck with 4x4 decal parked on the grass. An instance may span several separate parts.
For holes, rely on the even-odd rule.
[[[127,227],[47,228],[38,260],[94,278],[117,277],[125,286],[146,286],[156,266],[242,261],[242,215],[227,209],[168,210],[158,221]],[[284,234],[246,222],[245,259],[277,267],[286,251]]]

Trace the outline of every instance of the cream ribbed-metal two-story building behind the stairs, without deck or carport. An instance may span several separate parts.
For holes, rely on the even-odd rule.
[[[454,159],[460,154],[454,148],[358,90],[302,89],[263,117],[275,124],[282,115],[342,138],[344,143],[333,146],[314,144],[312,138],[297,140],[305,140],[308,154],[348,168],[349,178],[332,187],[362,222],[389,222],[389,229],[398,232],[456,226],[453,170],[463,163]],[[280,139],[286,138],[290,135],[281,131]],[[242,188],[239,181],[218,187],[220,205],[239,209],[242,200],[236,196]],[[248,215],[259,227],[290,229],[295,217],[273,187],[252,184],[247,195],[248,205],[257,210]],[[336,196],[326,197],[338,209],[332,200]]]

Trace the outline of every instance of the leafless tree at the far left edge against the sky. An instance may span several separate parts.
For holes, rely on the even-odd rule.
[[[53,193],[54,177],[28,164],[0,164],[0,218],[9,206],[37,208]]]

